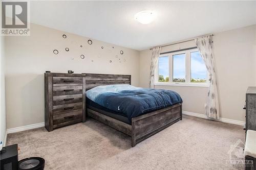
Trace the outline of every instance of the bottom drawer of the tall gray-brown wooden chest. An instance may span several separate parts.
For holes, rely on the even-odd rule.
[[[53,125],[57,125],[65,122],[73,122],[73,120],[82,121],[82,110],[53,115]]]

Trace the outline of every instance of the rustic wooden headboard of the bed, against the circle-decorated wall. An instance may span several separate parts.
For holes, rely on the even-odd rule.
[[[130,84],[131,75],[86,74],[86,90],[100,85]]]

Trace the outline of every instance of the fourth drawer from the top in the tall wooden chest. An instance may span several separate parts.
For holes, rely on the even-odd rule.
[[[53,106],[53,115],[82,110],[82,103]]]

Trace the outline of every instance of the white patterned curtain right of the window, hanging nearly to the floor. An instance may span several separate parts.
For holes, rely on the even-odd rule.
[[[215,72],[215,59],[211,49],[211,36],[203,36],[195,39],[197,48],[201,53],[206,68],[209,72],[208,100],[205,114],[211,118],[220,118],[217,79]]]

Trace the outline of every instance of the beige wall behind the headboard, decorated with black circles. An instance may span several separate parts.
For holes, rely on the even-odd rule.
[[[86,37],[65,33],[68,37],[63,39],[62,34],[58,30],[31,24],[30,36],[6,37],[8,129],[45,121],[43,74],[46,70],[129,74],[132,75],[132,85],[139,85],[138,51],[97,40],[89,45]],[[65,51],[66,47],[70,48],[69,52]],[[58,55],[53,54],[55,48],[59,50]],[[123,55],[120,55],[120,50]],[[86,59],[80,59],[81,54]],[[125,58],[125,62],[119,62],[119,58],[121,61]]]

